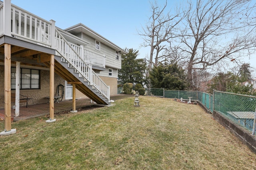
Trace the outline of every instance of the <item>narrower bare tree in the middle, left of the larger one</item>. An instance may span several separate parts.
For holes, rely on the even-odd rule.
[[[167,0],[163,8],[158,5],[157,0],[150,2],[150,4],[152,16],[150,16],[146,26],[142,28],[143,31],[138,32],[144,39],[142,46],[150,46],[149,71],[152,70],[152,64],[157,66],[159,59],[162,57],[161,51],[166,49],[166,43],[169,39],[176,37],[174,33],[176,25],[184,18],[184,12],[180,13],[177,9],[176,12],[173,12],[173,15],[171,12],[166,13]],[[154,62],[153,56],[155,57]]]

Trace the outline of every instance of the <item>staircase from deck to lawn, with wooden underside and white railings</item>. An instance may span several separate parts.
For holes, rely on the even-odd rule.
[[[68,82],[82,82],[76,88],[97,104],[110,105],[110,86],[92,70],[92,66],[85,62],[85,54],[80,46],[68,42],[55,29],[54,72]],[[50,67],[50,62],[44,62]]]

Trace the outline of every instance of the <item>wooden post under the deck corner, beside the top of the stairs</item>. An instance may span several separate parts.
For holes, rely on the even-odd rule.
[[[54,119],[54,55],[50,57],[50,119],[46,122],[56,121]]]

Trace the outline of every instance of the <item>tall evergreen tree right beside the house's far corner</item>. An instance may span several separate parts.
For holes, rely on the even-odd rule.
[[[122,84],[144,84],[146,63],[143,59],[136,59],[138,50],[125,49],[126,54],[122,55],[122,69],[118,70],[118,78]]]

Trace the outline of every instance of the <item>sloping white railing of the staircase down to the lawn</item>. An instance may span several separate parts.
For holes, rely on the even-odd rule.
[[[89,85],[92,85],[93,89],[100,92],[110,101],[110,86],[107,86],[102,79],[92,70],[92,66],[86,64],[81,57],[82,48],[78,45],[74,45],[66,41],[61,33],[56,29],[55,31],[55,47],[56,51],[67,62],[70,67],[75,69],[75,72],[79,73],[79,76],[84,78]]]

